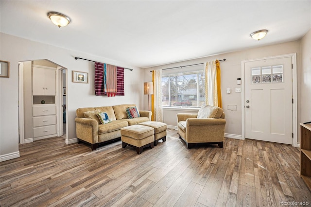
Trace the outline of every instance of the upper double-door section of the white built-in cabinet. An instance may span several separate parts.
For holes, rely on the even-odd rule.
[[[56,95],[56,70],[33,67],[33,95]]]

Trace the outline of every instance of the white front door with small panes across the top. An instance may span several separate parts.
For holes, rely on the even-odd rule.
[[[292,144],[292,57],[245,63],[245,138]]]

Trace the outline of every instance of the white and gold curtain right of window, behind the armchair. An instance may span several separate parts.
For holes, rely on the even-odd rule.
[[[222,107],[219,61],[209,61],[205,66],[205,103]]]

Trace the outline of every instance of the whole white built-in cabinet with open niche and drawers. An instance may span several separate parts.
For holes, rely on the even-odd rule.
[[[32,74],[34,140],[56,137],[56,68],[33,65]]]

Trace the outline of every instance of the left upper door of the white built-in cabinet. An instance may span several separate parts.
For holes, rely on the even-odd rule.
[[[44,96],[45,85],[44,85],[45,71],[40,68],[33,68],[33,95]]]

